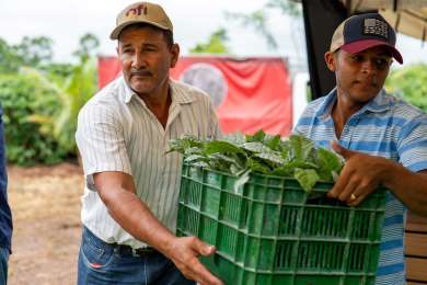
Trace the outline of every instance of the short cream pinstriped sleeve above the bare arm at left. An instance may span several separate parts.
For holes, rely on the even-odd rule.
[[[131,175],[123,121],[112,106],[91,104],[78,118],[76,141],[86,176],[104,171],[122,171]]]

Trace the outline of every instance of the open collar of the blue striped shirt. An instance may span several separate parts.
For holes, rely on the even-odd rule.
[[[334,88],[325,98],[325,100],[320,104],[319,111],[316,112],[316,116],[321,118],[326,118],[331,115],[332,107],[336,101],[336,88]],[[389,110],[391,106],[391,98],[385,92],[384,89],[371,100],[369,101],[358,113],[372,112],[379,113]]]

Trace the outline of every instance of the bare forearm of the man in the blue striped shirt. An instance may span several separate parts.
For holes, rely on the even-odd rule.
[[[427,173],[412,172],[392,162],[383,184],[412,212],[427,216]]]

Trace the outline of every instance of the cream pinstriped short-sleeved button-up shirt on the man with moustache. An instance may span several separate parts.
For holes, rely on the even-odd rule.
[[[170,80],[172,103],[166,126],[119,77],[80,111],[76,140],[85,175],[81,218],[105,242],[147,244],[127,233],[108,214],[92,174],[122,171],[130,174],[138,197],[170,230],[176,230],[182,156],[165,153],[170,139],[183,135],[220,136],[214,106],[199,89]],[[141,221],[142,223],[142,221]]]

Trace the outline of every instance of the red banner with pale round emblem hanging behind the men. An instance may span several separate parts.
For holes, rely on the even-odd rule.
[[[99,59],[100,88],[120,72],[115,57]],[[289,135],[292,96],[289,71],[282,58],[200,56],[181,57],[171,77],[205,90],[217,105],[224,134]]]

